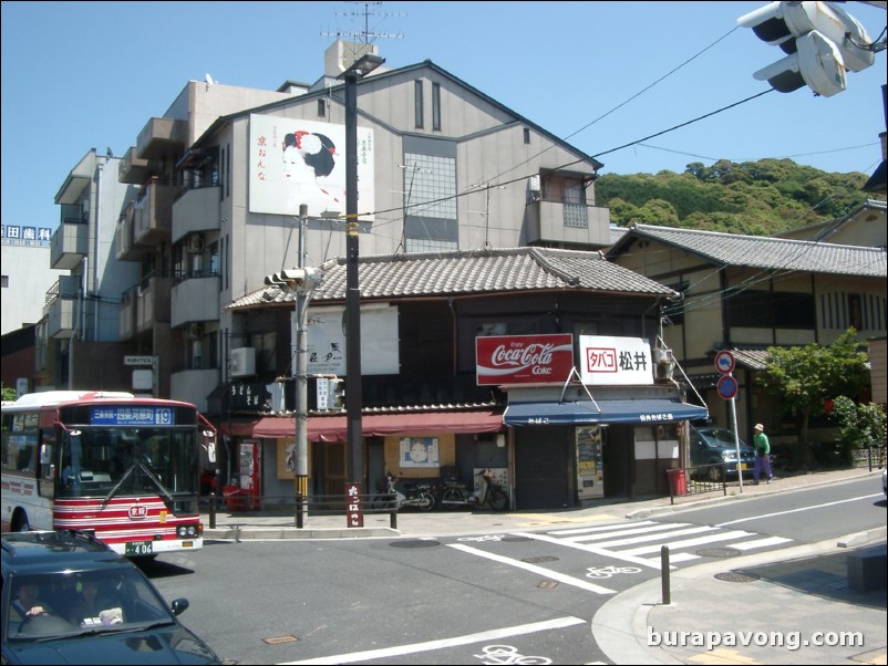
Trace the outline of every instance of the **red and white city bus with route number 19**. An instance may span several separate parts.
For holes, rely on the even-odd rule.
[[[2,406],[2,531],[89,530],[130,556],[203,547],[202,456],[216,430],[194,405],[48,391]]]

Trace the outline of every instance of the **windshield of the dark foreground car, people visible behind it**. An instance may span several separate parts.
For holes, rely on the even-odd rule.
[[[132,632],[175,622],[135,568],[14,575],[4,590],[3,641],[9,642]]]

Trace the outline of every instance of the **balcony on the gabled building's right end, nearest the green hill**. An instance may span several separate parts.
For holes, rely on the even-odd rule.
[[[585,204],[540,199],[527,205],[527,243],[553,247],[610,244],[610,210]]]

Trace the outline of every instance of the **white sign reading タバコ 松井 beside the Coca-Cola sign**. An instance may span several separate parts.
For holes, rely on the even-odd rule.
[[[579,354],[584,384],[653,384],[651,345],[642,337],[580,335]]]

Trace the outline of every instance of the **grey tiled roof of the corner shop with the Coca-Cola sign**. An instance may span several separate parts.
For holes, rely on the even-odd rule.
[[[344,301],[344,261],[335,259],[321,267],[323,280],[312,292],[312,303]],[[568,289],[654,296],[674,294],[659,282],[607,261],[599,252],[544,248],[361,257],[358,281],[361,299],[376,300]],[[292,300],[292,294],[266,287],[238,299],[228,310]]]

